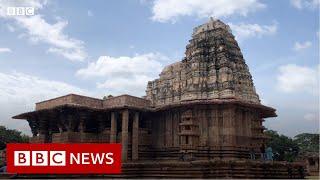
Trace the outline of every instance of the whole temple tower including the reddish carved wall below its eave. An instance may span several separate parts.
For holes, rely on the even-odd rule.
[[[159,79],[148,83],[146,94],[165,119],[156,126],[177,116],[173,147],[180,152],[201,154],[199,148],[209,147],[208,152],[218,148],[228,157],[232,147],[239,157],[242,148],[258,151],[266,140],[264,118],[276,116],[273,108],[260,103],[230,27],[212,18],[194,28],[183,60],[166,66]],[[161,112],[169,107],[171,114]]]

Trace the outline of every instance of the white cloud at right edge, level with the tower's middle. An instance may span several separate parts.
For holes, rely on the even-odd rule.
[[[306,92],[319,93],[319,68],[287,64],[279,67],[277,85],[286,93]]]

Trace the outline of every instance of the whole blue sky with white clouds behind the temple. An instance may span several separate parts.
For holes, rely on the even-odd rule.
[[[7,7],[34,16],[7,16]],[[262,103],[267,128],[319,131],[319,0],[0,0],[0,125],[68,93],[143,96],[146,82],[184,57],[192,29],[228,23]]]

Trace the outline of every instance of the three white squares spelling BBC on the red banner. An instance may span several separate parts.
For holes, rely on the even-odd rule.
[[[65,166],[66,151],[14,151],[14,166]]]

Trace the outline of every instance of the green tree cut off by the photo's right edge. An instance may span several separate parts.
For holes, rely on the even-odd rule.
[[[300,153],[319,152],[319,134],[302,133],[294,137],[298,144]]]

